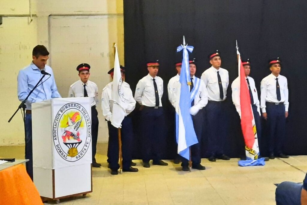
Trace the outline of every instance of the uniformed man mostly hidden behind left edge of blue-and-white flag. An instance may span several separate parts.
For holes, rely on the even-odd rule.
[[[174,120],[175,120],[175,123],[176,123],[176,113],[175,113],[175,105],[174,105],[174,101],[173,99],[176,99],[176,93],[177,93],[177,90],[176,88],[174,87],[175,84],[177,82],[179,82],[179,77],[180,77],[180,71],[181,71],[181,65],[182,65],[182,54],[180,53],[180,56],[178,55],[178,61],[180,62],[176,62],[175,63],[175,68],[177,70],[177,75],[175,75],[174,77],[172,77],[171,79],[169,79],[169,83],[167,84],[167,92],[168,92],[168,96],[169,96],[169,102],[173,105],[173,112],[174,112]],[[181,59],[181,60],[180,60]],[[177,141],[176,141],[176,124],[174,126],[175,128],[175,142],[176,142],[176,145],[177,145]],[[179,164],[180,163],[180,155],[177,154],[177,149],[176,149],[176,157],[174,159],[174,164]]]

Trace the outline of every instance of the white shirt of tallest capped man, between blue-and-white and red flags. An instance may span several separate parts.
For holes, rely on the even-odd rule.
[[[219,71],[222,86],[223,86],[223,100],[220,98],[220,87],[219,81],[217,79],[217,71]],[[208,99],[209,101],[224,101],[226,99],[227,87],[229,84],[229,76],[228,71],[223,68],[219,68],[218,70],[214,67],[210,67],[201,74],[201,80],[204,81],[207,89],[208,89]]]

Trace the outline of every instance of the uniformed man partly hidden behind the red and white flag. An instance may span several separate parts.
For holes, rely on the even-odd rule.
[[[251,105],[252,105],[252,110],[255,118],[255,125],[257,129],[257,137],[258,137],[258,144],[260,144],[260,139],[261,139],[261,122],[260,122],[260,103],[258,99],[258,93],[257,89],[255,86],[255,81],[252,77],[249,76],[251,73],[251,61],[250,59],[242,59],[242,65],[244,67],[244,73],[249,89],[249,97],[251,98]],[[235,105],[235,108],[241,118],[241,105],[240,105],[240,79],[237,77],[231,84],[231,89],[232,89],[232,101],[233,104]],[[260,149],[260,145],[259,145]],[[260,152],[261,153],[261,152]],[[261,156],[260,156],[261,157]],[[260,158],[259,157],[259,158]],[[246,157],[245,159],[246,160]],[[268,158],[265,158],[265,161],[267,161]]]

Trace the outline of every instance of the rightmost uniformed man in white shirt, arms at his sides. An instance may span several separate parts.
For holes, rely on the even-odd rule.
[[[260,95],[262,116],[269,125],[269,158],[274,159],[275,156],[289,158],[282,152],[289,107],[288,81],[279,74],[281,70],[279,57],[270,60],[269,64],[272,73],[262,79]]]

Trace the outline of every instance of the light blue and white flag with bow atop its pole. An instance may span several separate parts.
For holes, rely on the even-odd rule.
[[[185,41],[184,41],[185,44]],[[176,108],[176,139],[178,144],[178,154],[187,160],[190,160],[189,147],[198,143],[190,108],[193,97],[190,94],[190,66],[188,51],[192,53],[193,46],[181,45],[178,46],[177,52],[183,50],[183,59],[180,73],[180,100],[179,107]]]

